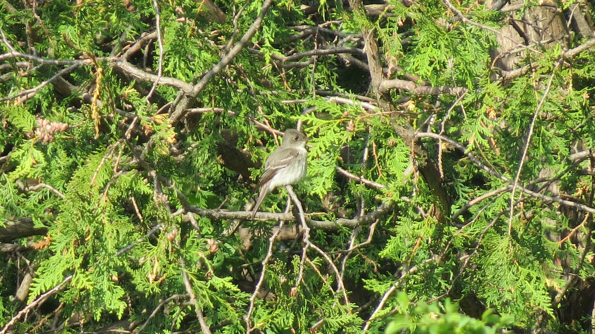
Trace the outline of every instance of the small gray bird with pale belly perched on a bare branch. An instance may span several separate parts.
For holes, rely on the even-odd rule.
[[[264,173],[258,187],[260,193],[252,209],[252,218],[267,195],[277,187],[296,184],[306,176],[306,137],[296,129],[287,129],[283,135],[281,146],[277,147],[264,163]]]

